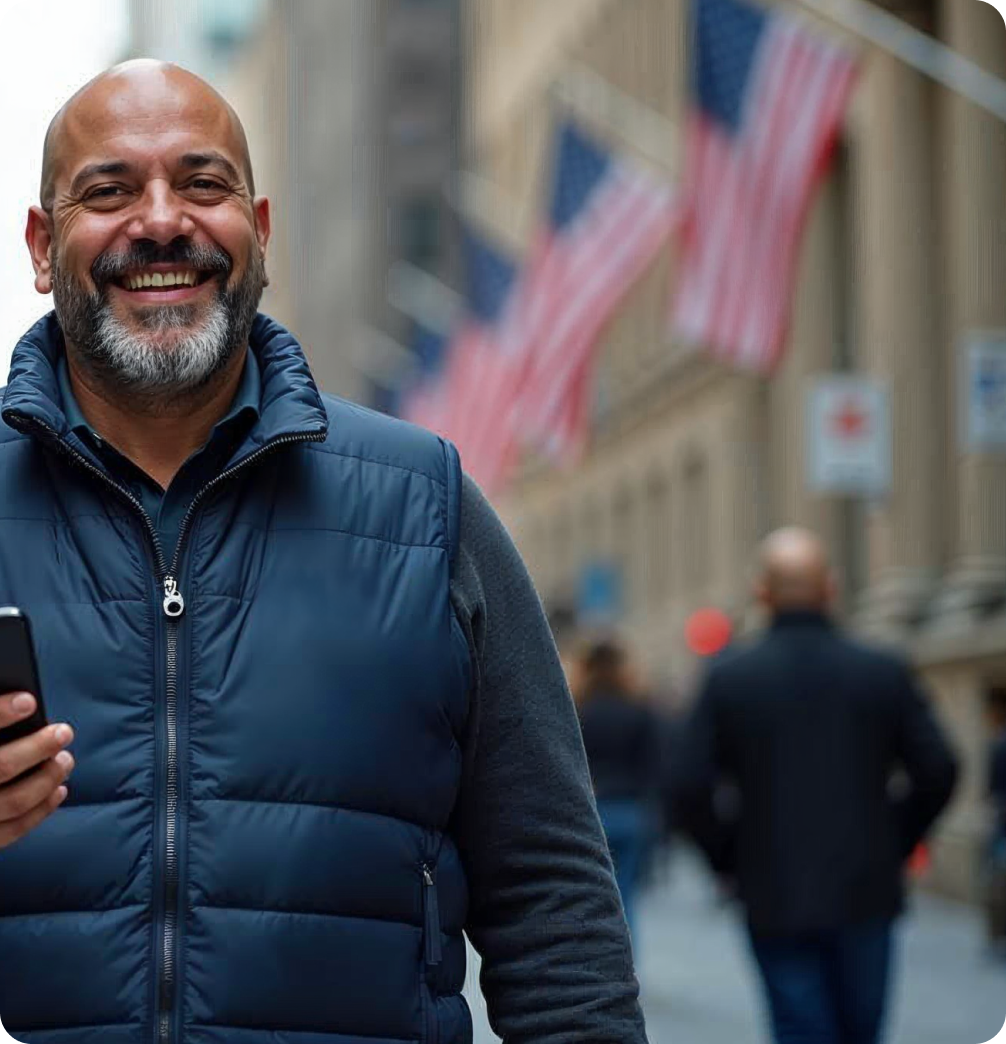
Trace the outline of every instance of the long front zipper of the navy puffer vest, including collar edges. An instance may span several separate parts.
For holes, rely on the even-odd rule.
[[[13,413],[13,418],[22,418],[23,414]],[[75,464],[82,467],[99,478],[109,489],[116,492],[127,501],[143,520],[147,528],[147,533],[153,545],[153,553],[157,560],[160,576],[163,577],[164,601],[162,609],[168,618],[167,622],[167,657],[166,657],[166,720],[167,720],[167,766],[165,781],[165,861],[164,861],[164,932],[161,946],[161,972],[158,986],[158,1017],[157,1017],[157,1044],[171,1044],[172,1020],[171,1013],[174,1009],[175,994],[175,943],[176,943],[176,922],[177,922],[177,898],[178,898],[178,862],[177,862],[177,815],[178,815],[178,718],[177,718],[177,668],[178,668],[178,617],[185,612],[185,599],[178,590],[175,574],[182,557],[182,549],[189,526],[195,515],[200,501],[208,493],[216,489],[221,482],[233,477],[242,469],[260,460],[267,453],[288,446],[292,443],[319,443],[325,441],[324,431],[302,431],[289,435],[281,435],[260,447],[255,453],[246,456],[233,468],[222,471],[216,478],[207,482],[192,498],[188,511],[178,527],[178,540],[175,544],[174,554],[171,556],[171,566],[165,564],[164,549],[161,547],[161,540],[158,530],[147,515],[140,500],[127,489],[120,485],[110,475],[100,468],[93,465],[83,454],[78,453],[72,446],[69,446],[54,428],[49,427],[44,421],[37,418],[24,418],[24,423],[39,428],[59,449],[70,457]]]

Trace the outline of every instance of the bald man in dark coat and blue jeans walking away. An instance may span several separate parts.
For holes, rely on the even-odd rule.
[[[907,664],[831,619],[813,533],[768,538],[758,596],[771,626],[705,675],[681,808],[745,908],[777,1044],[875,1044],[905,861],[950,799],[956,760]]]

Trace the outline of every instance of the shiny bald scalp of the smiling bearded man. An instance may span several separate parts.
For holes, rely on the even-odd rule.
[[[85,84],[53,116],[42,151],[40,200],[52,213],[61,177],[70,176],[75,156],[96,142],[114,139],[124,120],[149,121],[151,133],[170,117],[213,126],[236,157],[255,195],[244,127],[230,103],[205,79],[181,66],[153,58],[123,62]]]

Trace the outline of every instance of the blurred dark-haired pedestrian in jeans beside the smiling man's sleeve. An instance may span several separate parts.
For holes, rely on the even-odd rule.
[[[592,641],[576,671],[577,709],[625,919],[633,941],[637,898],[660,822],[660,720],[638,669],[614,638]]]

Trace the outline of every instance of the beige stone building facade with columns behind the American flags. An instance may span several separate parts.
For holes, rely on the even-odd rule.
[[[1006,78],[1006,23],[990,4],[890,6]],[[527,248],[566,110],[673,180],[686,26],[682,0],[471,0],[470,216]],[[548,607],[575,600],[586,564],[616,563],[621,624],[651,675],[686,692],[698,666],[684,642],[688,616],[716,606],[756,625],[760,538],[789,523],[819,530],[840,569],[844,617],[918,663],[963,755],[933,873],[973,895],[983,701],[1006,685],[1006,457],[959,437],[960,357],[975,332],[1006,337],[1006,125],[880,50],[863,54],[774,377],[668,337],[671,246],[605,335],[584,459],[567,471],[529,462],[500,507]],[[869,503],[815,495],[805,478],[808,381],[842,372],[889,382],[893,483]]]

